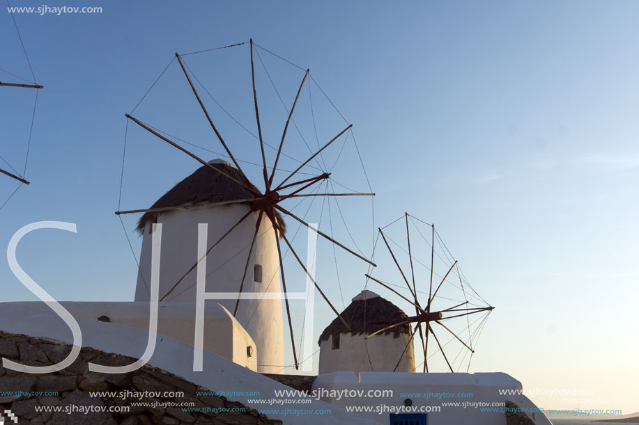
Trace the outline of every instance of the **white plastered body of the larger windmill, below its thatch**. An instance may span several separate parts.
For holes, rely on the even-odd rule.
[[[207,246],[210,247],[249,211],[246,205],[217,208],[193,208],[160,214],[162,223],[162,253],[160,255],[160,298],[197,262],[198,223],[208,223]],[[217,248],[210,252],[206,264],[207,292],[237,292],[246,265],[249,247],[255,232],[257,213],[251,214],[236,227]],[[275,231],[270,220],[262,219],[251,264],[244,284],[244,292],[279,294],[279,257]],[[262,266],[262,282],[254,282],[253,265]],[[148,301],[146,285],[151,282],[151,234],[149,223],[144,230],[140,253],[140,273],[135,291],[136,301]],[[178,286],[169,301],[192,303],[196,298],[196,271]],[[219,302],[233,313],[236,299],[210,300]],[[240,300],[240,324],[249,332],[257,347],[258,370],[276,373],[284,365],[284,328],[282,300]]]

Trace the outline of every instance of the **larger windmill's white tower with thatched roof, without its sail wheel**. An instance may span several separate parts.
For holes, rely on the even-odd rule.
[[[243,179],[240,172],[226,161],[216,159],[209,164],[236,179]],[[269,220],[261,220],[258,236],[247,262],[258,214],[251,212],[251,207],[246,202],[235,202],[245,198],[252,198],[252,194],[244,187],[208,166],[201,166],[157,200],[138,222],[137,230],[143,239],[135,300],[149,300],[154,223],[162,223],[160,300],[194,303],[197,290],[196,273],[187,271],[198,261],[198,224],[208,224],[207,241],[210,246],[246,215],[247,218],[233,228],[229,237],[224,238],[215,251],[208,255],[206,292],[237,293],[242,284],[242,276],[245,275],[245,293],[279,296],[277,241],[275,230]],[[211,203],[219,205],[222,202],[229,204],[217,207],[203,206]],[[175,209],[176,207],[183,208]],[[162,211],[167,208],[170,210]],[[277,214],[276,218],[280,227],[284,229],[282,217]],[[217,301],[229,312],[234,312],[238,297],[229,297],[227,294],[220,296],[226,299],[214,299],[213,302]],[[258,364],[272,365],[259,366],[259,371],[265,373],[281,369],[274,366],[284,364],[282,300],[277,296],[261,299],[245,294],[237,308],[236,319],[256,344]]]

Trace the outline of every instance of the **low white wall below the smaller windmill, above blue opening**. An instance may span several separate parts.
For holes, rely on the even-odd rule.
[[[526,396],[501,395],[499,390],[521,390],[521,383],[502,372],[475,373],[475,374],[448,374],[448,373],[385,373],[362,372],[359,375],[353,372],[334,372],[332,374],[319,375],[313,383],[313,390],[392,390],[392,396],[379,397],[346,397],[323,396],[321,399],[336,406],[372,406],[372,412],[362,412],[362,417],[367,417],[380,424],[389,424],[390,412],[379,413],[375,411],[378,406],[403,406],[404,400],[410,398],[413,407],[419,409],[422,406],[441,406],[444,402],[472,401],[475,403],[495,403],[512,401],[520,408],[535,408],[534,403]],[[428,393],[459,394],[472,393],[472,398],[448,397],[437,399],[430,397],[407,396],[401,393]],[[334,394],[337,394],[335,392]],[[371,393],[372,394],[372,393]],[[419,413],[419,410],[416,411]],[[504,412],[481,412],[479,408],[462,408],[441,406],[439,412],[427,413],[429,425],[505,425]],[[537,425],[552,425],[542,412],[528,414]]]

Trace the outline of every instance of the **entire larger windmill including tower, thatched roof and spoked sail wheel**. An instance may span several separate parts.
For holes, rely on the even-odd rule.
[[[307,223],[305,215],[302,214],[302,217],[300,217],[293,212],[300,204],[298,198],[302,198],[302,200],[303,198],[310,198],[312,200],[345,196],[374,196],[375,193],[354,192],[350,191],[350,189],[347,189],[348,192],[346,193],[334,193],[332,184],[330,185],[331,189],[328,189],[329,180],[331,179],[330,170],[332,170],[333,166],[328,168],[322,165],[319,160],[322,159],[323,154],[328,153],[328,147],[336,141],[343,140],[342,148],[344,147],[348,136],[352,133],[351,127],[353,125],[351,124],[346,123],[346,128],[339,131],[323,145],[320,145],[318,139],[318,149],[315,151],[310,150],[309,145],[306,145],[311,154],[305,161],[295,159],[295,157],[283,152],[289,124],[292,124],[292,127],[297,127],[293,121],[293,113],[305,82],[309,80],[309,69],[304,71],[300,68],[300,70],[304,71],[302,82],[291,108],[288,109],[285,106],[288,118],[286,119],[279,145],[272,146],[265,142],[261,130],[257,100],[253,61],[253,54],[254,52],[257,53],[257,51],[254,43],[250,40],[249,42],[226,47],[238,47],[246,44],[250,47],[254,101],[252,109],[255,111],[257,127],[257,134],[254,136],[259,141],[259,153],[262,160],[261,164],[253,163],[252,165],[262,168],[263,186],[260,185],[261,187],[258,188],[255,184],[249,182],[247,174],[244,173],[239,163],[247,161],[236,159],[216,127],[214,118],[208,112],[205,102],[203,102],[194,83],[195,81],[202,86],[201,81],[195,77],[185,58],[183,58],[187,54],[180,55],[176,53],[175,62],[171,61],[164,71],[171,66],[171,63],[179,65],[195,100],[205,115],[215,137],[220,142],[220,145],[224,147],[226,156],[229,157],[231,163],[219,159],[209,162],[204,161],[197,154],[190,152],[180,143],[172,140],[176,138],[175,136],[171,136],[156,127],[151,127],[132,115],[141,102],[144,101],[146,95],[153,89],[155,83],[162,78],[162,75],[164,75],[164,72],[162,72],[147,93],[140,99],[137,106],[125,116],[128,118],[128,122],[134,123],[183,154],[187,154],[198,161],[201,164],[201,168],[183,179],[182,182],[157,200],[151,208],[116,211],[115,214],[144,214],[137,227],[137,230],[144,236],[135,294],[135,300],[137,301],[146,301],[150,298],[148,283],[151,278],[151,232],[153,231],[154,223],[162,224],[160,303],[165,301],[192,302],[195,300],[197,281],[191,272],[197,268],[200,260],[200,257],[197,256],[197,224],[206,223],[208,225],[207,246],[210,247],[206,251],[205,290],[209,294],[207,298],[213,298],[213,296],[210,296],[211,293],[220,292],[220,298],[222,298],[218,299],[220,304],[233,314],[254,339],[257,348],[259,371],[277,373],[287,367],[284,364],[283,355],[281,294],[284,296],[288,333],[291,341],[290,346],[293,354],[293,364],[291,366],[294,366],[295,369],[299,367],[284,273],[284,257],[288,252],[293,257],[290,262],[293,265],[298,264],[341,323],[346,328],[349,328],[348,323],[332,305],[328,296],[316,282],[314,275],[309,272],[300,255],[293,247],[294,235],[291,240],[288,239],[283,217],[292,220],[295,224],[307,227],[307,229],[321,236],[324,241],[338,246],[371,266],[376,266],[374,262],[362,255],[363,253],[355,252],[355,250],[333,239],[332,236],[321,232],[314,225]],[[206,52],[218,50],[210,49]],[[266,50],[264,49],[264,51]],[[198,51],[190,54],[204,53],[205,51]],[[312,77],[310,79],[312,80]],[[316,84],[315,81],[314,83]],[[202,88],[204,87],[202,86]],[[323,93],[323,90],[321,92]],[[204,93],[210,95],[206,88],[204,88]],[[344,120],[346,121],[346,119]],[[126,134],[128,134],[127,131],[125,131],[124,155],[127,152]],[[355,143],[354,138],[351,139]],[[176,140],[185,142],[182,139]],[[275,150],[275,153],[269,154],[266,147]],[[337,150],[337,158],[335,159],[335,163],[337,163],[342,150],[338,148],[337,144],[334,145],[334,148]],[[243,145],[242,149],[246,149],[246,146]],[[274,160],[272,165],[269,165],[272,157],[274,157]],[[293,161],[293,163],[289,164],[290,167],[287,168],[294,168],[294,170],[286,170],[286,168],[282,167],[280,160],[284,157]],[[311,161],[315,161],[318,167],[309,165]],[[123,184],[124,164],[125,161],[123,161],[121,173],[121,187]],[[305,177],[301,177],[302,175]],[[323,184],[325,184],[325,189],[321,190]],[[346,188],[346,186],[344,187]],[[309,203],[312,205],[312,201]],[[288,205],[291,206],[289,207]],[[118,203],[118,209],[120,206]],[[281,289],[279,287],[280,283],[282,284]],[[277,296],[275,296],[276,292]]]

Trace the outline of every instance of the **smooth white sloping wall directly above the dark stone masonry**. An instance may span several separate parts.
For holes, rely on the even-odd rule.
[[[127,355],[139,358],[146,348],[148,333],[144,330],[102,323],[93,319],[79,317],[77,322],[82,330],[82,346],[90,346],[107,353]],[[72,335],[66,324],[51,310],[26,307],[19,303],[0,305],[0,330],[4,332],[29,335],[72,344]],[[213,353],[204,352],[203,371],[193,371],[192,347],[169,337],[158,338],[153,357],[148,364],[180,376],[185,380],[201,385],[211,391],[229,392],[231,401],[238,401],[254,409],[277,409],[280,406],[269,403],[249,403],[254,396],[247,392],[259,392],[260,399],[275,397],[275,390],[291,390],[281,383],[230,362]],[[310,399],[307,396],[294,395],[289,399]],[[291,403],[284,408],[326,411],[324,414],[292,415],[286,412],[272,412],[268,417],[281,419],[284,425],[324,425],[353,424],[374,425],[375,422],[353,415],[345,410],[323,401],[310,399],[310,403]]]

